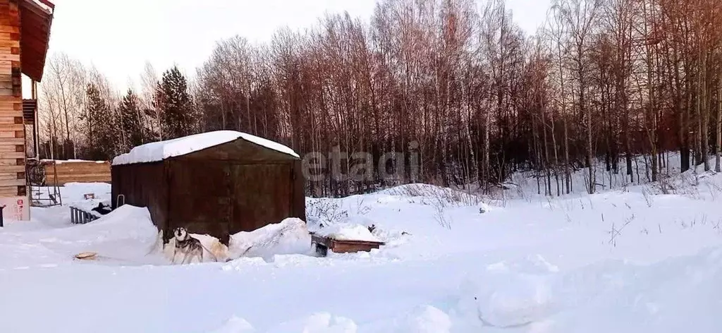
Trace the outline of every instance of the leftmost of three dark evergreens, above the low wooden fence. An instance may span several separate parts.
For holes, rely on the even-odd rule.
[[[88,84],[85,90],[87,107],[80,116],[87,137],[84,155],[91,160],[110,160],[115,155],[116,135],[110,105],[101,97],[100,90]]]

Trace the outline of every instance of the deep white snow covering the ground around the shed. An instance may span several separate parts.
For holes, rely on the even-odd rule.
[[[68,204],[110,188],[69,184],[64,207],[0,229],[0,332],[720,332],[722,174],[559,198],[516,183],[308,199],[309,229],[386,246],[314,256],[287,220],[182,266],[146,209],[71,225]]]

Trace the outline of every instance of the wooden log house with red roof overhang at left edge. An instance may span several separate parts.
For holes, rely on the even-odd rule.
[[[14,219],[30,218],[25,162],[37,152],[35,82],[43,78],[53,11],[47,0],[0,0],[0,206],[12,205],[4,215]],[[22,74],[31,82],[27,100]]]

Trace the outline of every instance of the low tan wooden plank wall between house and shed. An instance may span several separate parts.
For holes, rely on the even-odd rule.
[[[66,183],[110,183],[110,162],[56,160],[54,166],[58,173],[58,183],[53,177],[53,165],[45,165],[45,184],[63,186]]]

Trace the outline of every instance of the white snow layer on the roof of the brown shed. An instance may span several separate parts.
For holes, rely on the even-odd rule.
[[[276,150],[277,152],[299,157],[291,148],[269,139],[256,137],[255,135],[240,131],[210,131],[189,135],[188,137],[180,137],[178,139],[142,144],[133,148],[130,152],[113,158],[113,165],[157,162],[169,157],[182,156],[219,144],[225,144],[239,138],[271,150]]]

